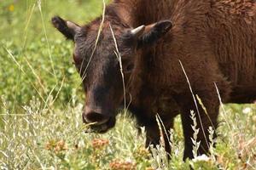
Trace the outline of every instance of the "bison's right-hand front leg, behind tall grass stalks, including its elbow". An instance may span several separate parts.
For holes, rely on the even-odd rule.
[[[204,111],[198,99],[196,99],[196,97],[195,99],[193,99],[190,91],[184,93],[181,96],[178,96],[177,98],[177,102],[182,110],[181,117],[183,123],[183,134],[185,139],[183,160],[185,160],[186,158],[194,158],[192,152],[194,144],[192,143],[191,138],[193,138],[193,134],[195,132],[191,127],[191,125],[193,125],[193,120],[190,117],[190,111],[195,111],[195,118],[197,122],[196,128],[199,128],[199,133],[197,134],[196,141],[201,141],[201,144],[197,151],[197,156],[208,153],[210,143],[208,132],[209,127],[213,128],[213,138],[216,138],[219,99],[213,82],[217,83],[220,96],[223,100],[228,99],[230,96],[229,82],[227,82],[222,76],[218,76],[218,74],[216,75],[217,76],[215,77],[208,76],[209,79],[207,79],[205,82],[201,82],[201,84],[197,86],[195,85],[194,88],[194,95],[197,94],[199,96],[202,104],[206,107],[207,113],[206,111]]]

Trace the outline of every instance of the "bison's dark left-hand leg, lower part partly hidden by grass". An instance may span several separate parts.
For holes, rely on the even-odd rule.
[[[164,122],[164,120],[162,120],[162,121]],[[168,141],[169,136],[167,137],[166,133],[167,133],[167,135],[169,135],[169,130],[170,130],[170,128],[173,127],[173,118],[169,119],[168,122],[164,122],[164,124],[165,124],[164,126],[165,126],[166,130],[162,126],[161,127],[161,129],[162,129],[161,134],[164,137],[163,139],[165,141],[166,152],[170,156],[170,154],[171,154],[171,145]],[[160,144],[161,134],[160,134],[160,127],[158,126],[158,123],[154,122],[150,126],[146,126],[145,129],[146,129],[146,147],[148,147],[150,144],[153,144],[154,147],[157,144]]]

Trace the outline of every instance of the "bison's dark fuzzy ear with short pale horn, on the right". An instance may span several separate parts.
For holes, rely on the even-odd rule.
[[[137,37],[137,48],[157,42],[172,28],[170,20],[160,20],[149,26],[139,26],[131,31]]]

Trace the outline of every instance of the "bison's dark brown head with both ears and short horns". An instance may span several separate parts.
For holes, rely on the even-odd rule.
[[[83,121],[104,133],[115,124],[117,108],[124,101],[124,83],[129,86],[137,55],[165,35],[172,23],[162,20],[131,28],[118,18],[106,16],[104,22],[98,18],[79,26],[55,16],[52,24],[74,42],[73,60],[86,94]]]

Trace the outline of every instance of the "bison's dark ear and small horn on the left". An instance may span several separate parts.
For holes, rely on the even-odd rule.
[[[51,19],[51,23],[60,31],[67,39],[74,40],[74,36],[81,30],[81,27],[71,21],[63,20],[59,16]]]

